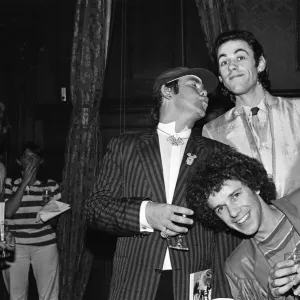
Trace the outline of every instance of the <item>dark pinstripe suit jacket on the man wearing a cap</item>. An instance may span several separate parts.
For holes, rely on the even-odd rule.
[[[193,165],[187,153],[197,155],[197,163],[212,151],[228,147],[193,134],[187,143],[173,204],[187,206],[185,185]],[[196,165],[194,163],[194,165]],[[162,162],[155,131],[113,138],[103,159],[100,174],[86,201],[87,222],[94,228],[118,235],[113,262],[110,300],[153,300],[160,280],[168,241],[158,231],[141,233],[141,201],[149,198],[166,203]],[[223,272],[223,261],[215,255],[215,233],[196,223],[185,236],[189,251],[170,251],[176,300],[189,299],[189,275],[212,268],[213,297],[231,296]],[[174,241],[173,241],[174,243]],[[221,248],[221,247],[220,247]],[[217,267],[218,266],[218,267]]]

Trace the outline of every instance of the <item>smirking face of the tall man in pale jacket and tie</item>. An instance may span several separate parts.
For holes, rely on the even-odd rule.
[[[258,64],[249,44],[243,40],[232,40],[218,49],[219,80],[235,95],[243,95],[256,89],[258,72],[266,67],[263,56]]]

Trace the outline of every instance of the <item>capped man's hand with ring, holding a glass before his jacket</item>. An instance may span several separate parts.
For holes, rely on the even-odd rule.
[[[167,231],[168,236],[188,232],[187,227],[178,226],[175,223],[193,225],[192,219],[182,216],[193,214],[194,212],[189,208],[172,204],[148,202],[146,206],[147,222],[155,230]]]

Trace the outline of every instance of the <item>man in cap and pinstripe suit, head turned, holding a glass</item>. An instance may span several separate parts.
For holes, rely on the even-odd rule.
[[[205,69],[178,67],[155,81],[150,132],[113,138],[86,201],[91,227],[117,235],[110,300],[188,300],[190,276],[212,271],[212,298],[230,296],[215,233],[193,222],[185,187],[196,162],[228,147],[192,132],[217,87]]]

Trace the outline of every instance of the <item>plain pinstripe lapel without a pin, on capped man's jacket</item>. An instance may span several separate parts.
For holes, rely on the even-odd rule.
[[[162,161],[159,150],[159,142],[156,130],[143,134],[138,144],[138,153],[147,180],[152,189],[156,202],[167,202],[163,177]]]

